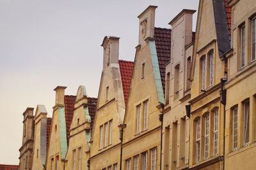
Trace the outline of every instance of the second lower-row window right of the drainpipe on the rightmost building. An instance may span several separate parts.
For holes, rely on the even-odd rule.
[[[249,143],[250,101],[244,102],[244,145]]]

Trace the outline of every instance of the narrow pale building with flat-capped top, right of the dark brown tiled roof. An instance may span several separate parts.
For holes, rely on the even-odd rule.
[[[163,111],[162,169],[188,169],[190,100],[188,81],[195,33],[192,31],[195,10],[182,10],[169,24],[172,26],[170,62],[166,63],[165,105]]]

